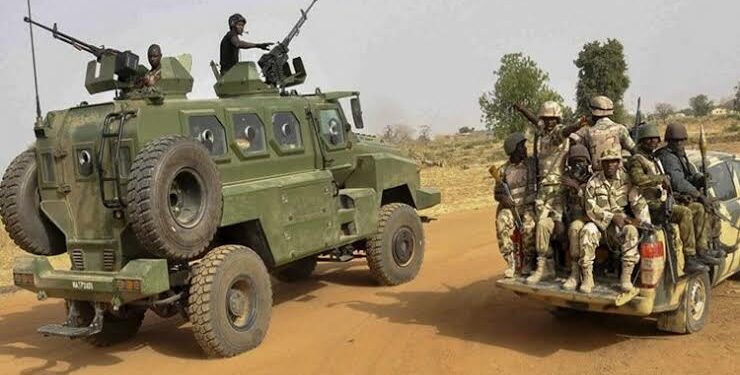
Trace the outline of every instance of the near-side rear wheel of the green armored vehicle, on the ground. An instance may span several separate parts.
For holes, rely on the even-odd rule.
[[[217,247],[193,267],[188,313],[209,357],[257,347],[272,315],[270,275],[262,259],[238,245]]]

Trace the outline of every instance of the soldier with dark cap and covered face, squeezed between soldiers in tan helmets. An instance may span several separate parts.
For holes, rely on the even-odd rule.
[[[586,183],[592,176],[591,155],[584,145],[573,145],[568,151],[565,173],[561,178],[565,190],[564,217],[568,226],[568,251],[570,253],[570,276],[563,283],[563,289],[575,290],[581,277],[581,229],[589,221],[583,205]],[[540,223],[542,225],[542,223]],[[539,241],[539,238],[538,238]]]

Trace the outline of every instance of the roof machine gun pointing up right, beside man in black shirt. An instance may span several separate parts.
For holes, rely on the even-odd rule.
[[[268,85],[285,88],[299,85],[306,80],[306,70],[303,67],[303,61],[300,57],[293,59],[295,72],[291,70],[288,63],[288,46],[293,38],[301,31],[301,27],[306,20],[308,20],[308,12],[311,11],[316,1],[318,0],[312,0],[305,11],[301,9],[301,17],[288,35],[282,42],[277,43],[270,52],[262,55],[257,62],[262,69],[262,74],[265,76],[265,82]]]

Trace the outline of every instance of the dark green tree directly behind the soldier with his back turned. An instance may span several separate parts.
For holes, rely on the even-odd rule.
[[[606,95],[614,101],[615,119],[623,121],[622,98],[630,79],[622,43],[616,39],[607,39],[603,44],[599,41],[586,43],[573,63],[578,68],[576,112],[590,113],[589,100],[596,95]]]

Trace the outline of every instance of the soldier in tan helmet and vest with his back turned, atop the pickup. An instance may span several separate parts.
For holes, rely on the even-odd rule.
[[[594,96],[589,102],[591,107],[592,126],[582,128],[574,133],[573,138],[586,146],[591,153],[593,170],[601,170],[599,156],[604,150],[618,149],[634,152],[635,142],[630,137],[627,127],[612,121],[609,116],[614,114],[614,103],[606,96]]]

